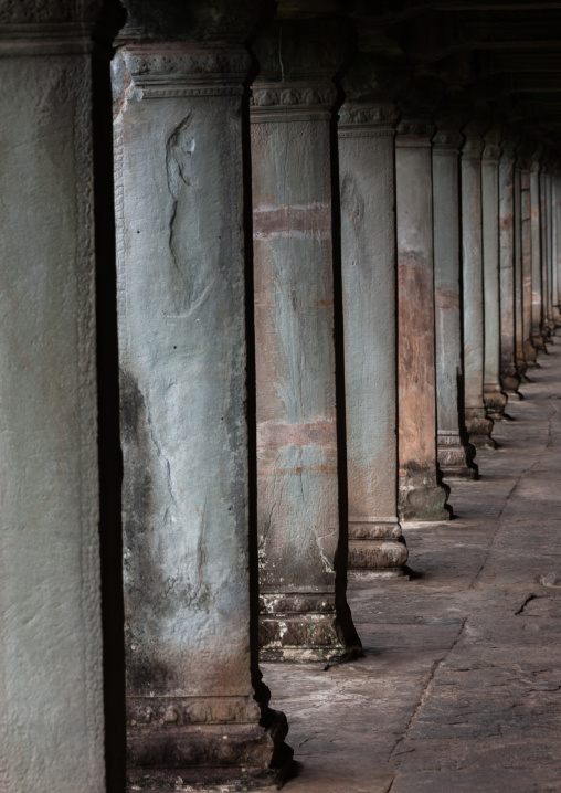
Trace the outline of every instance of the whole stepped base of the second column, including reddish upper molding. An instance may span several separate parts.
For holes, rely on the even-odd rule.
[[[127,728],[127,793],[213,787],[227,791],[230,786],[232,791],[252,791],[265,784],[279,785],[290,770],[293,757],[284,742],[288,732],[286,717],[271,708],[265,708],[262,716],[257,702],[247,699],[133,700],[133,709],[136,707],[142,722],[129,720]],[[246,721],[213,722],[216,712],[224,709],[231,716],[236,711],[235,717]],[[207,723],[186,723],[193,712]]]

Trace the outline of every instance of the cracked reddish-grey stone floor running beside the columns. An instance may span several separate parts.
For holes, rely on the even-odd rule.
[[[264,664],[286,793],[561,792],[561,339],[455,519],[405,524],[410,581],[352,584],[364,658]]]

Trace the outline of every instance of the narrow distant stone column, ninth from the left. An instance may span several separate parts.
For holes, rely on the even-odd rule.
[[[500,381],[509,396],[520,398],[518,392],[520,376],[516,362],[516,139],[502,140],[502,156],[499,160]]]

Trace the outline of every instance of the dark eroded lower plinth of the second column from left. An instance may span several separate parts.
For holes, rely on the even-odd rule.
[[[147,706],[149,710],[150,700]],[[252,791],[278,785],[292,766],[293,750],[284,742],[287,732],[284,713],[271,709],[261,723],[130,723],[126,791],[222,791],[227,785]]]

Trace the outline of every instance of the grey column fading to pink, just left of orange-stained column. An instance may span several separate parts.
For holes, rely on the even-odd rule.
[[[354,72],[360,64],[353,64]],[[354,77],[351,73],[350,81]],[[347,87],[346,84],[343,84]],[[339,172],[349,493],[349,571],[402,574],[398,521],[395,105],[340,110]]]

